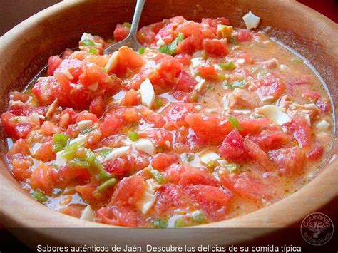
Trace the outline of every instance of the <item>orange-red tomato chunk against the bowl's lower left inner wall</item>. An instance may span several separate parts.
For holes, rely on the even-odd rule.
[[[21,139],[22,140],[22,139]],[[34,164],[33,160],[28,156],[15,154],[11,155],[11,165],[14,177],[16,180],[25,182],[29,177],[31,177],[31,166]]]

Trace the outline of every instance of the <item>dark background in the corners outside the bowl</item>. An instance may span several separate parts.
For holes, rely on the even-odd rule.
[[[76,0],[75,0],[76,1]],[[338,23],[337,0],[297,0]],[[0,0],[0,36],[21,21],[46,9],[48,6],[60,2],[59,0]],[[1,38],[0,38],[1,39]],[[0,56],[1,57],[1,56]],[[6,205],[1,203],[1,205]],[[337,224],[335,222],[335,224]],[[336,232],[337,233],[337,232]],[[332,238],[334,239],[334,238]],[[337,238],[336,238],[337,239]],[[334,239],[335,240],[335,239]],[[337,245],[337,244],[336,244]],[[9,250],[10,249],[10,250]],[[308,251],[309,250],[309,251]],[[304,247],[303,252],[312,252],[313,248]],[[320,252],[320,248],[318,248]],[[16,240],[2,225],[0,221],[0,252],[31,252],[21,242]],[[337,249],[334,249],[337,252]]]

